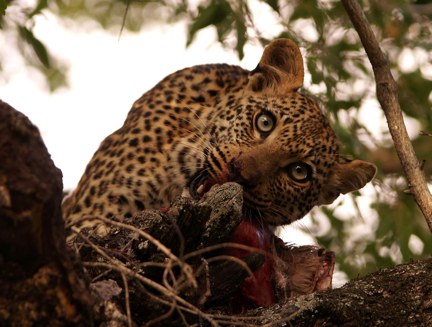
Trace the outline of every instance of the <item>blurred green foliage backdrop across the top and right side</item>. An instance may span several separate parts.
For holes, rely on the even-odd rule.
[[[47,77],[51,90],[64,85],[66,67],[33,35],[34,18],[43,10],[69,19],[95,21],[105,29],[120,30],[124,22],[132,31],[155,20],[169,23],[186,19],[187,45],[200,29],[213,26],[218,41],[235,49],[240,59],[247,42],[265,46],[274,38],[291,38],[305,54],[306,76],[310,76],[305,92],[332,122],[343,144],[341,153],[378,166],[375,192],[367,195],[368,210],[362,200],[366,195],[346,195],[343,201],[352,200],[353,213],[340,214],[345,210],[343,202],[318,208],[311,214],[309,230],[322,245],[336,252],[340,270],[350,278],[432,254],[426,222],[410,196],[403,193],[406,179],[388,131],[369,127],[376,123],[376,113],[381,110],[375,100],[372,69],[339,1],[38,0],[33,6],[22,1],[0,0],[0,33],[16,31],[21,55]],[[432,1],[365,0],[360,5],[391,61],[405,117],[432,134]],[[14,6],[21,9],[20,15],[12,10]],[[273,23],[280,25],[279,35],[269,35],[265,24],[255,19],[263,6]],[[425,174],[430,182],[432,138],[419,136],[413,145],[419,159],[427,159]],[[324,233],[322,226],[329,222],[330,228]]]

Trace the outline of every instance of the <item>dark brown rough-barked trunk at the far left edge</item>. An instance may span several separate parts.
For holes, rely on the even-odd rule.
[[[67,248],[61,178],[37,127],[0,101],[0,326],[115,322]]]

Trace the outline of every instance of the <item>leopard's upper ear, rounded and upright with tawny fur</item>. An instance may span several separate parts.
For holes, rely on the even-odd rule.
[[[277,39],[264,49],[258,66],[249,72],[248,88],[254,92],[284,94],[302,87],[305,76],[299,47],[288,39]]]

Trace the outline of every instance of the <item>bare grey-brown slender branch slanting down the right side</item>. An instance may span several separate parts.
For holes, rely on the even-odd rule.
[[[420,207],[432,232],[432,195],[426,183],[424,173],[417,160],[410,138],[403,123],[399,105],[397,84],[391,75],[390,64],[381,50],[368,20],[356,0],[341,0],[353,22],[375,75],[377,97],[387,118],[388,128],[393,138],[394,147],[410,185],[410,195]]]

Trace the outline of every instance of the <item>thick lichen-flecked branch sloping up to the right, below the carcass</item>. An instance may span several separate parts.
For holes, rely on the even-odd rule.
[[[339,289],[299,296],[246,316],[262,316],[253,324],[273,326],[432,326],[431,271],[430,258],[400,264]]]

